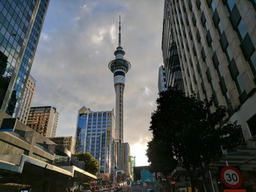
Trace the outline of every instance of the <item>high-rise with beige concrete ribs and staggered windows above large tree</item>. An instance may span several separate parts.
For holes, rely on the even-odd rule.
[[[246,140],[255,136],[255,1],[170,1],[170,14],[186,95],[214,98]]]

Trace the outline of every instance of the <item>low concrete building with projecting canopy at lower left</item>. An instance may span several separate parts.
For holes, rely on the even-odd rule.
[[[69,150],[0,110],[0,190],[62,192],[96,176],[74,166]]]

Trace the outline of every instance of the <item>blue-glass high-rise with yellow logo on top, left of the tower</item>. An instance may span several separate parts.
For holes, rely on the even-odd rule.
[[[114,171],[114,136],[114,110],[94,112],[86,106],[78,110],[75,153],[90,153],[105,174]]]

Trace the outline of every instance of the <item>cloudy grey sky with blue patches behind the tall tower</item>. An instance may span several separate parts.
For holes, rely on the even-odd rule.
[[[115,107],[114,77],[108,63],[118,46],[131,69],[124,90],[124,142],[136,166],[146,158],[151,113],[158,98],[162,65],[164,0],[50,0],[31,75],[36,89],[32,106],[54,106],[59,113],[56,136],[75,136],[78,110]]]

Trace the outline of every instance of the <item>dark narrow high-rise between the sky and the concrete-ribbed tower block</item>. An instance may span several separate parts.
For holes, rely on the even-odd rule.
[[[174,18],[170,13],[171,0],[165,1],[163,26],[162,26],[162,58],[164,63],[166,87],[177,86],[179,90],[184,90],[182,70],[178,59],[178,50],[174,37]],[[159,75],[162,70],[159,68]],[[159,78],[161,78],[159,76]],[[161,82],[161,79],[159,79]],[[161,91],[159,91],[161,92]]]

